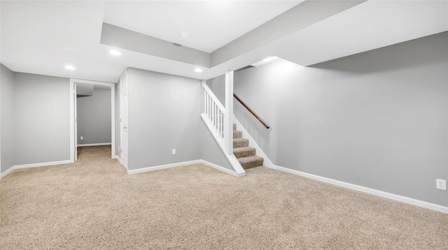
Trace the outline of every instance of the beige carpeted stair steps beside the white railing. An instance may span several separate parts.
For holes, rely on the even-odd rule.
[[[244,169],[263,165],[263,158],[255,155],[255,148],[248,147],[249,140],[243,138],[243,132],[237,131],[237,124],[233,124],[233,154]]]

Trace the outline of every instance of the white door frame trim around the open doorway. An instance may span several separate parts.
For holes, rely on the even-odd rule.
[[[73,86],[76,83],[94,84],[111,87],[111,142],[112,152],[111,157],[116,158],[115,154],[115,83],[112,82],[97,82],[90,80],[82,80],[70,78],[70,162],[75,162],[75,100],[73,95]]]

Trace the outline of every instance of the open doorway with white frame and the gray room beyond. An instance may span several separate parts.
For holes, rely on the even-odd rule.
[[[96,95],[94,98],[89,96]],[[88,105],[104,99],[104,94],[110,94],[110,124],[99,124],[102,117],[98,112],[104,110],[104,106],[88,110]],[[80,100],[85,97],[86,99]],[[78,101],[83,105],[78,105]],[[80,108],[81,110],[78,110]],[[78,117],[78,112],[83,117]],[[97,114],[95,114],[97,113]],[[81,118],[81,119],[80,119]],[[104,117],[103,117],[104,118]],[[111,82],[97,82],[90,80],[70,79],[70,161],[74,162],[78,156],[78,146],[111,145],[111,157],[115,158],[115,84]],[[103,119],[104,120],[104,119]],[[78,124],[82,122],[82,124]],[[103,121],[104,123],[104,121]],[[103,128],[103,129],[102,129]],[[110,129],[109,129],[110,128]],[[102,129],[102,130],[101,130]],[[82,132],[78,133],[78,132]],[[105,134],[106,133],[106,134]],[[87,136],[85,136],[87,135]],[[81,136],[83,137],[81,140]],[[105,140],[109,140],[105,141]]]

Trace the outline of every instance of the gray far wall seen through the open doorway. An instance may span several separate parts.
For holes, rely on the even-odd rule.
[[[80,97],[76,101],[78,145],[111,143],[111,89],[95,87],[92,96]],[[84,140],[80,140],[81,136]]]

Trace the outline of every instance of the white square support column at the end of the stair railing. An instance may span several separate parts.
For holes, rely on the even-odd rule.
[[[233,71],[225,72],[224,145],[228,155],[233,154]]]

